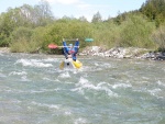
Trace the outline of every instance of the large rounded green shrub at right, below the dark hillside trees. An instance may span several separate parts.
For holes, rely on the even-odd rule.
[[[150,35],[155,29],[154,23],[147,22],[141,15],[131,15],[121,26],[120,46],[154,47],[154,43],[150,40]]]

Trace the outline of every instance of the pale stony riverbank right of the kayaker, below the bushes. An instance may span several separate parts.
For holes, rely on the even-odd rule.
[[[165,53],[155,53],[146,48],[136,47],[113,47],[111,49],[103,49],[99,46],[86,47],[79,55],[90,55],[112,58],[138,58],[138,59],[153,59],[165,60]]]

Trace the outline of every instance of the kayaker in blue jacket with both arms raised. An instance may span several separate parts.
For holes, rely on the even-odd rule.
[[[69,44],[67,46],[65,40],[63,40],[63,50],[64,50],[64,56],[66,59],[73,58],[74,61],[76,61],[77,57],[76,54],[78,53],[79,49],[79,41],[78,38],[75,41],[75,46],[73,44]]]

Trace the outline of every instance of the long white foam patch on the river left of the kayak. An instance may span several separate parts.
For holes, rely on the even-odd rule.
[[[22,64],[30,67],[52,67],[52,64],[44,64],[37,59],[19,59],[15,64]]]

